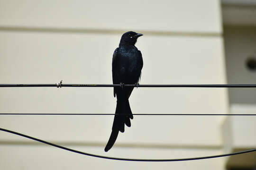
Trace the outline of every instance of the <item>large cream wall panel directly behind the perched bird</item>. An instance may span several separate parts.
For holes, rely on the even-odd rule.
[[[120,35],[5,32],[0,37],[4,61],[0,67],[1,82],[55,83],[63,79],[64,83],[111,84],[112,52]],[[221,45],[221,38],[216,37],[145,35],[138,40],[144,57],[141,84],[225,84]],[[116,105],[112,88],[1,88],[0,93],[1,112],[114,113]],[[227,112],[225,89],[139,88],[134,90],[130,103],[133,113]],[[15,119],[19,123],[12,123]],[[2,116],[0,121],[5,127],[24,129],[49,140],[105,142],[112,120],[110,116],[42,119]],[[219,128],[216,128],[219,120],[218,117],[137,116],[132,127],[126,128],[124,138],[119,137],[118,141],[219,145]],[[40,135],[38,129],[42,129]],[[58,131],[70,133],[60,135]],[[83,135],[84,131],[87,133]]]

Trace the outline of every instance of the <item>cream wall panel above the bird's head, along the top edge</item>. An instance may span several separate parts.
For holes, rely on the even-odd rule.
[[[0,26],[221,32],[218,0],[8,0]]]

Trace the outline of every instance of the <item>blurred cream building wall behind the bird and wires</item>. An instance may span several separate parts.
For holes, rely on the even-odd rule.
[[[0,0],[0,84],[111,84],[113,51],[138,39],[140,84],[256,84],[256,0]],[[255,88],[136,88],[133,113],[255,114]],[[113,89],[0,88],[0,113],[114,113]],[[0,127],[104,156],[177,159],[256,148],[253,116],[134,116],[104,152],[113,116],[0,115]],[[1,170],[254,170],[256,153],[112,161],[0,132]]]

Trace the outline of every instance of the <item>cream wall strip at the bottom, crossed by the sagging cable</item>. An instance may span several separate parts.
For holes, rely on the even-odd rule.
[[[69,147],[69,146],[68,146]],[[73,147],[89,153],[101,154],[99,147]],[[178,162],[136,162],[136,161],[113,161],[100,158],[92,158],[77,153],[69,153],[58,148],[46,146],[0,146],[1,155],[0,166],[5,170],[17,170],[26,167],[26,170],[45,169],[115,169],[122,167],[123,170],[155,170],[160,169],[207,169],[225,170],[221,164],[222,159],[208,159],[204,161],[178,161]],[[105,154],[105,153],[104,153]],[[117,148],[115,153],[109,156],[120,156],[128,158],[187,158],[195,156],[205,156],[221,154],[219,150],[183,150],[183,149],[129,149]],[[14,158],[15,155],[15,159]],[[26,159],[24,157],[26,156]],[[32,163],[33,162],[33,163]]]

